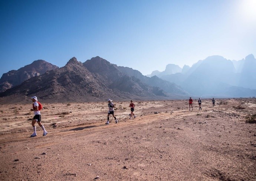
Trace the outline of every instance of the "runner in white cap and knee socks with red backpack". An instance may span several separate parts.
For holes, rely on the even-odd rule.
[[[32,126],[33,126],[33,131],[34,132],[33,132],[33,134],[30,137],[37,136],[37,134],[36,134],[36,126],[35,126],[36,122],[42,128],[43,136],[46,136],[48,132],[45,130],[45,127],[41,123],[41,113],[40,113],[40,110],[43,108],[43,106],[42,106],[42,104],[40,102],[38,102],[36,96],[33,96],[31,99],[32,99],[32,102],[33,102],[33,109],[30,109],[30,111],[34,111],[34,115],[35,116],[33,117],[33,120],[32,120]]]

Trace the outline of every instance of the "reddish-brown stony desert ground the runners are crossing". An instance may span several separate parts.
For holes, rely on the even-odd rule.
[[[0,180],[256,180],[255,98],[133,101],[0,105]]]

